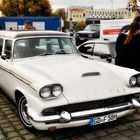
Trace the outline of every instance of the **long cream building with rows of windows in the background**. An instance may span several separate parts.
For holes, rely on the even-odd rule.
[[[91,7],[71,6],[67,8],[67,20],[78,22],[86,21],[87,18],[96,19],[127,19],[130,18],[129,10],[120,9],[94,9]]]

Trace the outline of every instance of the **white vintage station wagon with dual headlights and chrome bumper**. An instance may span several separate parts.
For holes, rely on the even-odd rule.
[[[140,107],[140,73],[83,58],[56,31],[0,31],[0,88],[27,128],[98,125]]]

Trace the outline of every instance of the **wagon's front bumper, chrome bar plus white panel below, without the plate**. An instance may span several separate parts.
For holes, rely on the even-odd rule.
[[[104,108],[90,109],[85,111],[67,112],[62,110],[60,114],[40,116],[28,108],[28,115],[32,125],[39,130],[47,130],[51,127],[66,128],[88,125],[90,118],[98,115],[117,113],[117,117],[122,117],[132,113],[140,107],[140,101],[133,98],[130,102],[116,104]]]

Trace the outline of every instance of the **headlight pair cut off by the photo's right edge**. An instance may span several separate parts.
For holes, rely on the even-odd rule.
[[[130,86],[140,86],[140,74],[134,75],[129,79]]]

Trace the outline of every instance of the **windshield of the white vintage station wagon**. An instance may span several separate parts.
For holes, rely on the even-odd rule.
[[[15,42],[14,58],[33,56],[77,54],[71,38],[26,38]]]

